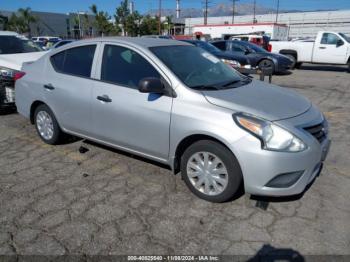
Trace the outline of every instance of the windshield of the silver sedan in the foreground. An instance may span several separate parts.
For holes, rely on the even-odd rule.
[[[225,89],[246,79],[220,59],[195,46],[158,46],[151,51],[188,87]]]

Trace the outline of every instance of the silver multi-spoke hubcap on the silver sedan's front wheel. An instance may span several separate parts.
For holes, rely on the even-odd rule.
[[[227,187],[227,169],[213,153],[195,153],[189,158],[186,170],[191,184],[203,194],[219,195]]]

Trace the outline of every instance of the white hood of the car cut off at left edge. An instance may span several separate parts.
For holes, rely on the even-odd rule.
[[[14,70],[21,70],[23,63],[33,62],[45,55],[47,52],[31,52],[0,55],[0,66]]]

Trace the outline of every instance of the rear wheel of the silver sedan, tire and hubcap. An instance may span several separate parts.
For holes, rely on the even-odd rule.
[[[41,104],[35,109],[34,124],[39,137],[46,144],[56,145],[62,141],[64,134],[55,115],[47,105]]]

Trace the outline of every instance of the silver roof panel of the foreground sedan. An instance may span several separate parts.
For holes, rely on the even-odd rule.
[[[162,39],[162,38],[147,38],[147,37],[99,37],[88,40],[78,41],[79,43],[93,43],[93,42],[115,42],[121,44],[130,44],[143,48],[150,48],[156,46],[174,46],[174,45],[190,45],[182,41]]]

